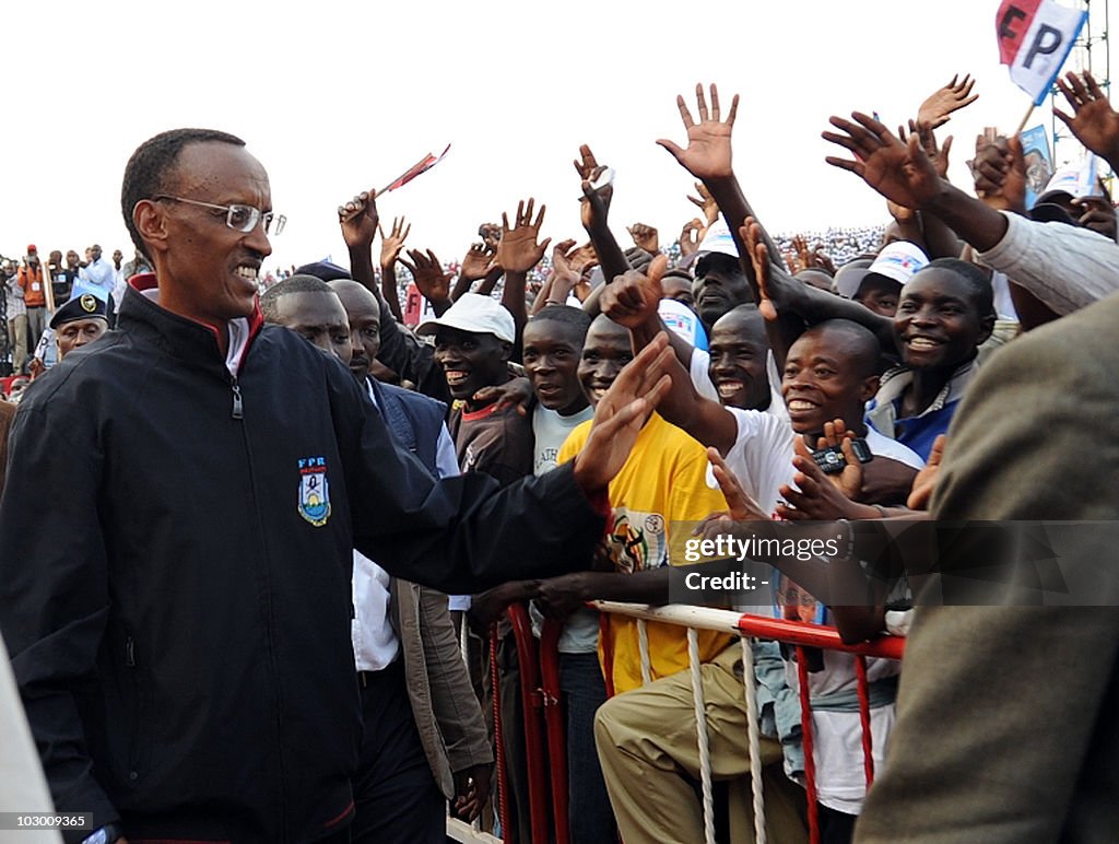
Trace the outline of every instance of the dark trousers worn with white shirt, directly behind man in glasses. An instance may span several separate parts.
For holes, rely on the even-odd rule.
[[[365,730],[354,781],[354,842],[443,844],[446,805],[420,743],[397,659],[360,675]]]

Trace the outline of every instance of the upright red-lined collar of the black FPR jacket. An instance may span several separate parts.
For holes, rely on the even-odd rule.
[[[172,313],[158,303],[159,285],[154,273],[133,275],[125,288],[119,326],[144,335],[168,354],[200,364],[222,364],[218,328]],[[264,325],[260,301],[253,303],[250,319],[233,320],[229,327],[229,353],[224,367],[236,375],[248,347]]]

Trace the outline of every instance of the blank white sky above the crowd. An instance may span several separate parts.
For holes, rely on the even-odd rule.
[[[653,141],[684,142],[675,97],[694,104],[698,81],[717,83],[725,104],[742,95],[735,169],[767,227],[881,223],[882,200],[824,162],[828,115],[876,110],[896,125],[953,73],[970,72],[979,101],[940,131],[956,135],[951,176],[968,185],[976,133],[1012,131],[1029,104],[998,65],[997,7],[6,3],[0,252],[21,255],[29,242],[43,255],[81,252],[97,242],[130,256],[124,163],[144,139],[184,125],[241,135],[269,170],[274,207],[289,221],[269,268],[327,254],[345,263],[339,201],[448,142],[434,170],[378,203],[383,221],[405,214],[414,223],[411,247],[460,259],[479,223],[511,217],[528,196],[548,206],[544,236],[581,237],[571,161],[583,142],[618,171],[619,240],[628,245],[623,226],[641,221],[667,244],[696,209],[685,199],[688,175]],[[1038,122],[1050,126],[1047,104]],[[1059,160],[1074,149],[1063,141]]]

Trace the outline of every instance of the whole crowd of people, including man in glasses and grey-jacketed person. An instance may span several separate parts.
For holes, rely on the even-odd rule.
[[[914,523],[1119,515],[1115,208],[1066,182],[1027,208],[1014,137],[951,185],[953,83],[909,133],[861,112],[824,133],[888,225],[768,233],[732,166],[737,97],[697,86],[686,143],[661,141],[699,194],[670,244],[619,240],[584,146],[577,237],[553,246],[527,198],[452,265],[366,191],[338,207],[348,265],[265,279],[282,218],[244,142],[144,142],[130,262],[3,263],[0,693],[37,753],[13,740],[0,781],[88,813],[75,842],[438,842],[450,813],[527,844],[524,604],[560,628],[571,841],[703,841],[688,638],[590,603],[668,603],[699,524],[830,543],[753,554],[772,599],[735,609],[908,637],[868,660],[863,723],[854,657],[805,670],[756,641],[747,676],[737,637],[699,632],[726,840],[753,840],[751,777],[774,842],[809,816],[829,844],[1113,833],[1113,606],[933,606],[869,550]],[[1061,86],[1119,168],[1119,112],[1088,74]]]

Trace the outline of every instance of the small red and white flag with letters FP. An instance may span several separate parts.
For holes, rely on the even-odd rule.
[[[1010,79],[1041,105],[1061,73],[1088,12],[1053,0],[1003,0],[995,18],[1000,62]]]

